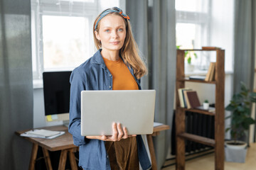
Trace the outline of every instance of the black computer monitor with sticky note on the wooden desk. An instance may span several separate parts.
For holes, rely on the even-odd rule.
[[[63,120],[68,126],[71,72],[43,72],[43,96],[46,121]]]

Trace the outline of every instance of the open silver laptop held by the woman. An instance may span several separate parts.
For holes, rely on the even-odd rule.
[[[82,91],[81,135],[112,135],[121,123],[128,135],[153,133],[155,90]]]

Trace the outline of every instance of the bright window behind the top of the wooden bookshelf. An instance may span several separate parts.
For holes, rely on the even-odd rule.
[[[176,1],[176,46],[180,49],[201,49],[210,42],[210,0],[178,0]],[[205,70],[208,62],[201,52],[191,52],[191,60],[185,62],[186,72],[188,63],[195,69]],[[210,60],[210,57],[206,57]],[[188,57],[186,58],[188,61]],[[203,64],[203,65],[202,65]],[[189,64],[190,65],[190,64]]]

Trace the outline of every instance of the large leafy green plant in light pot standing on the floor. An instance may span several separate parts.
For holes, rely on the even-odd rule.
[[[226,132],[230,131],[232,140],[225,142],[225,159],[228,162],[245,162],[247,143],[239,139],[245,136],[250,125],[255,124],[255,120],[251,118],[251,105],[256,102],[256,93],[250,92],[243,82],[240,85],[241,91],[233,95],[225,108],[226,111],[231,111],[231,115],[227,117],[231,119],[231,124]]]

